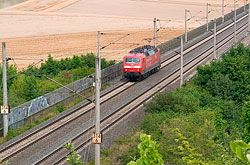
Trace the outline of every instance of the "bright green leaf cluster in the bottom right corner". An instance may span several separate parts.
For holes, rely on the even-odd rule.
[[[242,140],[235,140],[230,142],[230,147],[240,160],[250,164],[250,144]]]

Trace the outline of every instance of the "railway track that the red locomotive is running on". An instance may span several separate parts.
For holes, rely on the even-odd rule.
[[[177,60],[179,57],[175,56],[168,60],[165,60],[162,62],[162,67],[167,66],[172,61]],[[123,82],[119,84],[117,87],[112,89],[111,92],[105,93],[101,95],[101,104],[105,103],[108,99],[111,99],[118,94],[122,93],[125,90],[128,90],[130,87],[135,85],[136,82]],[[94,100],[93,100],[94,101]],[[53,121],[52,123],[45,125],[44,127],[41,127],[40,129],[32,132],[31,134],[28,134],[27,136],[24,136],[14,143],[11,143],[3,148],[0,149],[0,158],[2,158],[3,161],[10,159],[11,157],[15,156],[19,152],[23,151],[24,149],[28,148],[32,144],[44,139],[45,137],[49,136],[50,134],[54,133],[56,130],[60,129],[64,125],[67,125],[68,123],[76,120],[77,118],[82,117],[83,115],[87,115],[91,110],[93,110],[95,107],[93,102],[88,102],[83,104],[82,106],[78,107],[77,109],[74,109],[71,114],[68,116],[62,116],[59,119]],[[81,111],[82,109],[85,109],[84,111]]]

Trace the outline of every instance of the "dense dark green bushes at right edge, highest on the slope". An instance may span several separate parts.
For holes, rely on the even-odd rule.
[[[250,48],[242,44],[224,54],[222,61],[198,67],[196,84],[213,96],[242,104],[250,94]]]

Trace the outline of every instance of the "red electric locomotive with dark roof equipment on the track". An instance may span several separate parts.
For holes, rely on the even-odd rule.
[[[131,50],[123,58],[123,76],[130,80],[147,77],[160,67],[160,49],[150,45]]]

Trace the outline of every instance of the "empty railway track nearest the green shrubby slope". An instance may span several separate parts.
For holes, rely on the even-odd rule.
[[[238,29],[237,33],[238,34],[242,33],[246,28],[247,26],[245,24],[241,28]],[[217,49],[222,48],[224,44],[230,41],[233,41],[233,39],[234,39],[233,34],[228,35],[224,40],[221,40],[217,44]],[[197,65],[204,63],[205,61],[210,59],[212,55],[213,55],[213,47],[211,46],[208,50],[202,52],[201,56],[196,56],[195,58],[193,58],[192,60],[190,60],[188,63],[184,65],[184,75],[188,74],[189,72],[192,72],[196,68]],[[179,57],[177,59],[179,59]],[[131,100],[129,104],[121,106],[118,109],[116,109],[116,111],[114,111],[113,113],[105,116],[101,120],[101,128],[102,128],[101,132],[103,133],[103,135],[105,135],[110,129],[112,129],[114,125],[118,124],[121,120],[124,120],[124,118],[128,117],[132,112],[141,108],[143,104],[149,101],[152,98],[152,96],[154,96],[157,92],[164,90],[165,88],[167,88],[168,85],[176,82],[180,77],[179,71],[180,71],[180,68],[176,69],[170,75],[162,78],[154,88],[144,91],[142,94],[140,94],[140,96],[137,99]],[[84,149],[86,149],[88,145],[91,144],[91,138],[89,137],[86,138],[85,136],[85,134],[89,131],[94,132],[94,125],[85,129],[83,132],[79,133],[77,136],[72,138],[73,143],[76,140],[82,141],[82,143],[76,146],[75,148],[76,151],[82,152]],[[81,138],[81,140],[79,140],[79,138]],[[47,164],[48,162],[46,162],[46,159],[52,157],[54,154],[58,154],[60,150],[63,150],[63,148],[62,147],[57,148],[57,150],[55,150],[52,153],[49,153],[48,156],[40,159],[35,164]],[[62,163],[68,154],[70,153],[64,152],[63,154],[62,152],[60,152],[59,155],[61,155],[61,157],[53,164]]]

